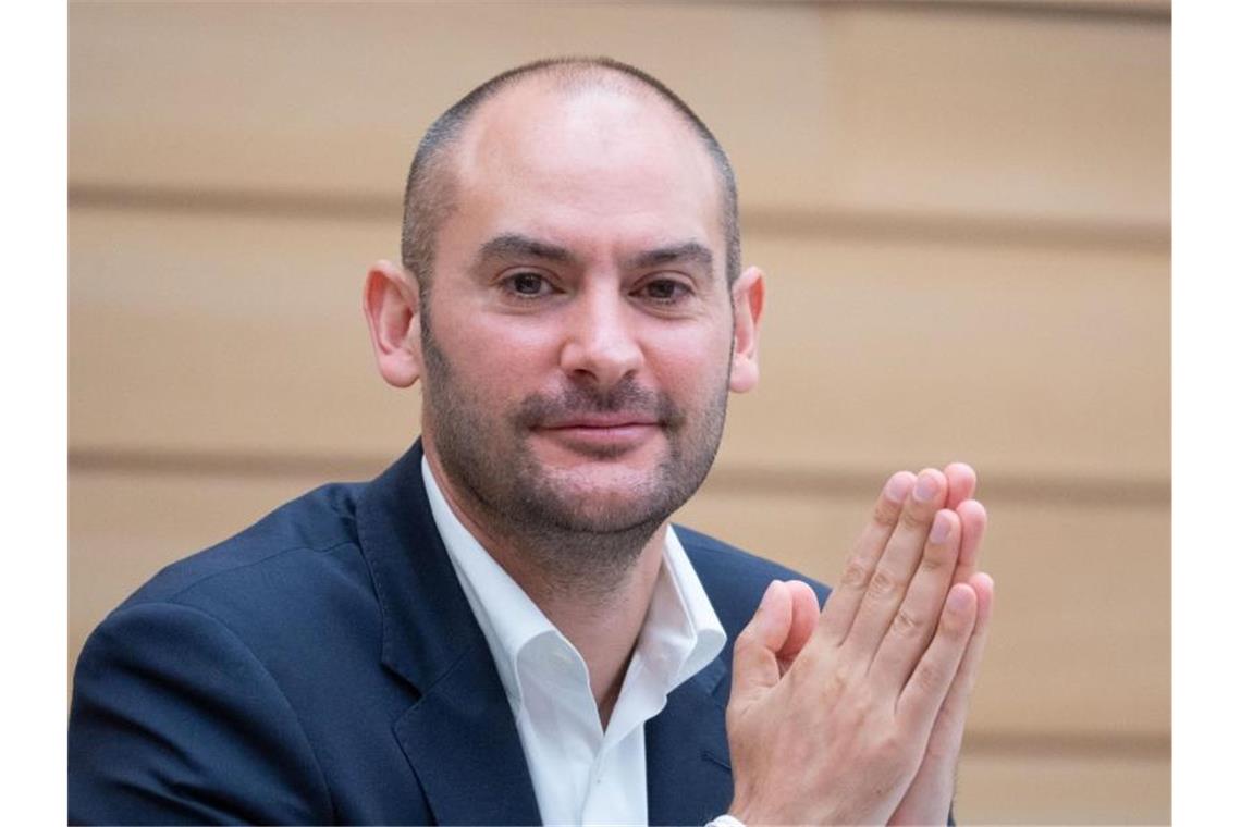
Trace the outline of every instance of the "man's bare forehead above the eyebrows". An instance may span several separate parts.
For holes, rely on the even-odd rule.
[[[715,164],[684,117],[645,89],[519,83],[479,108],[452,169],[454,213],[478,232],[722,245]]]

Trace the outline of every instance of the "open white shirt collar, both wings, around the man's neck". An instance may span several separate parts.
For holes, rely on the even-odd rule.
[[[521,702],[516,670],[520,652],[542,639],[557,639],[570,650],[573,647],[457,518],[426,456],[422,458],[422,480],[457,579],[491,650],[504,689],[517,705]],[[664,692],[671,692],[714,661],[726,642],[727,635],[711,600],[676,532],[669,526],[663,564],[635,655],[642,657],[645,668],[658,674]]]

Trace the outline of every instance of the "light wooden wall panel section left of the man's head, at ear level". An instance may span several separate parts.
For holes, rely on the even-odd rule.
[[[386,456],[417,393],[374,367],[361,312],[398,222],[72,211],[74,449]]]

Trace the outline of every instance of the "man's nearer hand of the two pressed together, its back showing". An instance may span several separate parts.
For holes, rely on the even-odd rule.
[[[952,584],[962,520],[942,508],[947,477],[917,482],[907,496],[913,475],[889,481],[822,615],[808,586],[773,583],[738,636],[727,723],[742,821],[885,822],[920,774],[979,598]]]

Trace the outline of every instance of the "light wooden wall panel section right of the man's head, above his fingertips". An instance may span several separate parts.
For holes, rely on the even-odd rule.
[[[772,234],[746,259],[769,312],[730,460],[1165,477],[1165,255]]]

